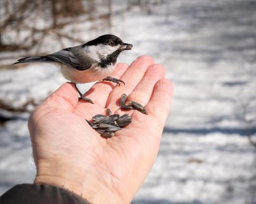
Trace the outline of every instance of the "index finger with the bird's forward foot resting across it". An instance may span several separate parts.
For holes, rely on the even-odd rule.
[[[128,66],[129,65],[124,64],[124,63],[117,64],[116,69],[115,69],[114,73],[111,75],[111,77],[114,77],[117,79],[121,78],[121,76],[126,71]],[[94,104],[98,104],[101,107],[105,107],[108,96],[114,88],[115,88],[115,85],[113,82],[101,81],[101,82],[95,83],[84,94],[84,96],[86,98],[90,98]]]

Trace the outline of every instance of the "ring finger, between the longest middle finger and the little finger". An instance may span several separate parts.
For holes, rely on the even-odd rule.
[[[165,69],[161,64],[150,65],[144,77],[127,97],[127,100],[136,101],[145,106],[153,93],[156,82],[164,78],[164,75]]]

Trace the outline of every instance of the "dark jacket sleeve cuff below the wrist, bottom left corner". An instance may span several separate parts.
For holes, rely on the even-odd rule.
[[[71,191],[44,184],[19,184],[0,197],[1,204],[92,204]]]

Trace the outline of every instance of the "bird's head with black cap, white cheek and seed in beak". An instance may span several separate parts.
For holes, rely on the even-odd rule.
[[[87,42],[83,47],[86,53],[101,67],[107,67],[111,63],[116,63],[117,57],[122,51],[132,49],[132,44],[123,43],[114,35],[103,35]]]

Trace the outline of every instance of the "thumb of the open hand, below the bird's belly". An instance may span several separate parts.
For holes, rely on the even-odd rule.
[[[67,111],[73,112],[78,102],[77,92],[74,84],[64,83],[47,97],[42,104],[43,106],[50,106],[62,108]]]

